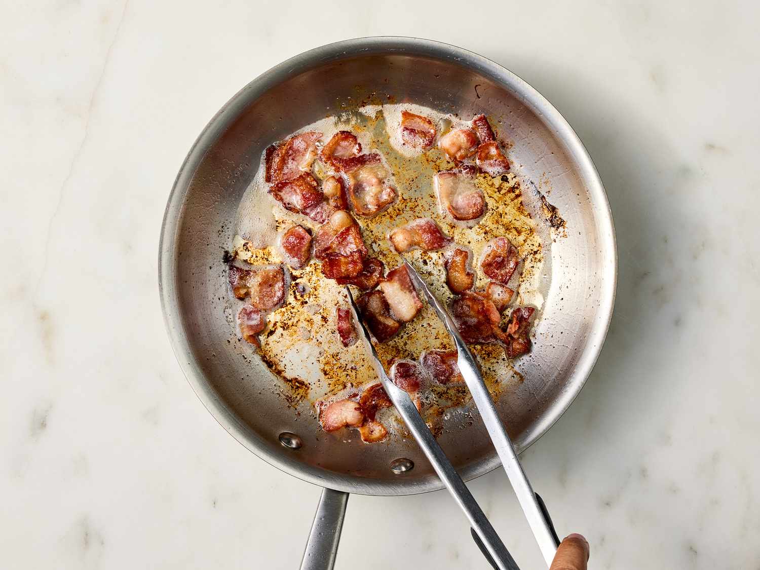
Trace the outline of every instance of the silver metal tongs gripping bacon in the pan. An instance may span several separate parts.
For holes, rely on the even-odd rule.
[[[414,283],[416,290],[422,291],[424,296],[428,300],[430,306],[435,309],[439,318],[443,321],[448,334],[454,339],[454,344],[457,347],[457,365],[459,372],[464,377],[464,382],[467,383],[467,388],[472,394],[473,401],[480,416],[483,418],[483,423],[488,430],[496,453],[499,454],[499,458],[502,460],[502,465],[507,473],[509,483],[515,494],[518,497],[518,502],[527,518],[530,530],[533,531],[536,542],[541,550],[543,559],[546,561],[546,566],[549,567],[552,564],[554,555],[559,546],[559,538],[552,524],[551,518],[549,518],[549,512],[546,511],[546,505],[543,504],[543,500],[540,496],[534,492],[530,486],[530,482],[527,480],[525,473],[522,469],[518,455],[515,452],[515,447],[512,445],[509,436],[502,420],[499,418],[499,414],[496,413],[496,407],[491,399],[488,388],[483,383],[483,377],[480,375],[480,370],[477,368],[473,354],[464,343],[462,337],[459,334],[456,324],[454,323],[451,315],[441,305],[438,299],[432,294],[427,287],[426,283],[420,278],[416,270],[404,259],[404,264],[407,266],[409,276]],[[470,493],[467,486],[464,485],[459,473],[454,470],[454,466],[451,465],[451,461],[448,460],[446,454],[443,452],[441,446],[435,441],[435,437],[430,432],[425,420],[420,415],[411,397],[406,391],[398,388],[383,369],[382,363],[378,359],[375,347],[369,341],[369,331],[367,331],[362,319],[359,316],[359,309],[356,306],[356,302],[353,300],[353,296],[348,287],[346,287],[348,298],[350,299],[353,312],[355,313],[356,322],[359,323],[359,328],[362,331],[362,337],[365,346],[368,348],[372,359],[375,363],[375,369],[382,382],[383,388],[388,393],[388,397],[391,398],[394,406],[401,414],[407,427],[412,432],[414,439],[420,445],[425,453],[428,461],[432,465],[435,473],[445,484],[448,492],[454,497],[454,500],[458,503],[464,514],[470,521],[471,533],[473,539],[480,547],[483,555],[490,562],[493,568],[498,570],[519,570],[515,560],[511,557],[507,548],[502,543],[499,535],[496,534],[496,530],[493,529],[491,523],[483,514],[483,510],[477,501]]]

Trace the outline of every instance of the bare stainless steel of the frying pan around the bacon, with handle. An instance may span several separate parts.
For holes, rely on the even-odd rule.
[[[211,119],[179,170],[161,230],[161,301],[182,370],[224,429],[264,461],[331,489],[315,518],[305,556],[309,568],[328,568],[334,559],[345,493],[406,495],[442,489],[442,483],[413,441],[344,442],[318,429],[309,402],[295,410],[285,404],[271,388],[276,381],[269,369],[236,338],[223,250],[233,238],[240,198],[271,141],[333,114],[338,105],[386,95],[501,120],[499,135],[514,142],[509,156],[518,172],[549,181],[549,200],[567,222],[567,235],[551,249],[551,286],[534,348],[517,365],[524,382],[497,402],[518,451],[578,395],[613,310],[616,246],[602,183],[565,119],[515,74],[443,43],[377,37],[296,55],[244,87]],[[499,465],[480,422],[445,430],[439,442],[464,480]],[[337,532],[318,532],[320,520]]]

